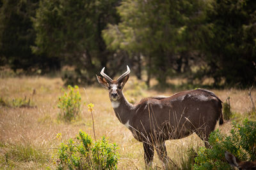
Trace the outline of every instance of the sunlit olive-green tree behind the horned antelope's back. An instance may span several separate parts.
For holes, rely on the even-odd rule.
[[[108,48],[141,53],[147,84],[153,75],[164,85],[175,71],[177,55],[195,48],[200,31],[196,24],[205,16],[205,2],[124,0],[117,9],[121,22],[103,31]]]

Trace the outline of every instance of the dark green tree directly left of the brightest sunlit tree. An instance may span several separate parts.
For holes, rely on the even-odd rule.
[[[60,57],[75,66],[74,83],[92,83],[99,66],[106,66],[108,55],[101,31],[116,23],[118,1],[43,0],[33,20],[36,31],[35,53]]]

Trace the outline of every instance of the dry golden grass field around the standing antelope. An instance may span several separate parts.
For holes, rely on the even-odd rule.
[[[178,91],[166,89],[157,92],[145,89],[145,85],[134,77],[130,79],[124,89],[129,101],[140,101],[141,97],[147,96],[170,96]],[[98,85],[79,87],[84,103],[83,111],[77,121],[67,124],[59,122],[57,118],[57,103],[62,86],[63,81],[60,78],[0,78],[2,99],[11,102],[13,99],[26,97],[33,106],[14,108],[0,105],[0,169],[54,169],[54,154],[61,141],[76,137],[79,129],[93,136],[92,117],[86,108],[89,103],[95,105],[93,116],[96,138],[105,136],[109,142],[118,145],[118,169],[144,169],[142,144],[118,122],[107,90]],[[248,90],[209,90],[222,101],[230,97],[232,111],[237,115],[241,114],[242,118],[243,114],[252,109]],[[256,90],[252,91],[252,97],[256,99]],[[220,129],[227,133],[230,127],[230,122],[226,122]],[[61,133],[61,138],[57,138],[58,133]],[[186,160],[189,148],[203,145],[204,143],[194,134],[188,138],[166,142],[168,156],[179,166]],[[157,155],[154,157],[153,167],[162,168]]]

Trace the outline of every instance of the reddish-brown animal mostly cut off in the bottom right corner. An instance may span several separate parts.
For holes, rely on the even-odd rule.
[[[230,164],[231,166],[237,167],[238,169],[241,170],[256,170],[256,161],[254,162],[243,162],[240,161],[239,159],[237,159],[234,155],[232,155],[229,152],[225,152],[225,158],[228,161],[228,164]]]

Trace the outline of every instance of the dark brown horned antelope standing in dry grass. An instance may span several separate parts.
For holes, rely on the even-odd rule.
[[[118,120],[143,143],[146,166],[152,164],[154,148],[164,164],[170,160],[164,141],[184,138],[195,132],[205,146],[209,146],[209,134],[217,122],[223,124],[221,100],[208,90],[189,90],[170,97],[148,97],[138,104],[131,104],[122,91],[131,72],[129,66],[117,80],[112,80],[104,69],[100,71],[101,76],[96,74],[97,80],[108,89]]]

